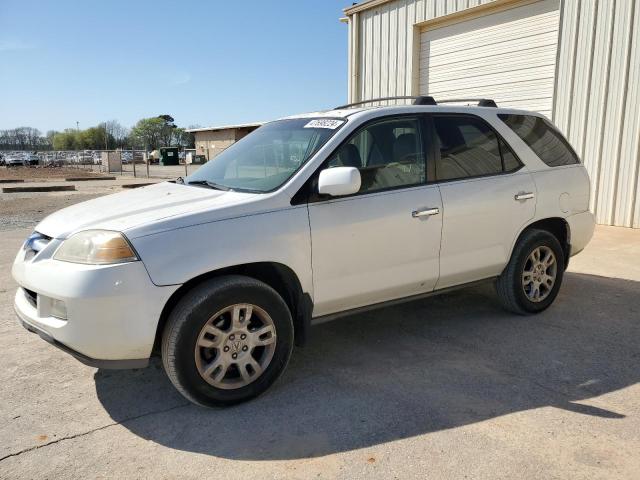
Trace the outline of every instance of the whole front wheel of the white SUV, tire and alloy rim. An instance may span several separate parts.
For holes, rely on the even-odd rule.
[[[225,276],[188,292],[171,312],[162,360],[174,386],[203,406],[240,403],[267,390],[293,348],[293,322],[267,284]]]

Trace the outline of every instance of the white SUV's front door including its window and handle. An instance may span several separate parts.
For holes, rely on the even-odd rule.
[[[314,316],[433,290],[439,275],[442,202],[426,184],[422,121],[377,120],[323,168],[360,170],[360,191],[309,203]]]

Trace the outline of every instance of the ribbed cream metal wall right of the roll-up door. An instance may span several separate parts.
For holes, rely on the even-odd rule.
[[[591,177],[598,223],[640,228],[640,5],[565,0],[554,122]]]

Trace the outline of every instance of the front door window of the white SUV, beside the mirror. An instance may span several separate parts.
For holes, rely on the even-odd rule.
[[[360,170],[360,193],[425,183],[420,121],[393,118],[359,130],[328,161]]]

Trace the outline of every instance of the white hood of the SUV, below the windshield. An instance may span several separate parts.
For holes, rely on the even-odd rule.
[[[223,208],[242,205],[256,196],[254,193],[228,192],[163,182],[63,208],[40,222],[36,230],[61,239],[77,231],[89,229],[121,232],[133,229],[140,235],[145,234],[149,226],[161,224],[163,229],[167,229],[174,223],[173,228],[177,228],[184,226],[187,217],[202,213],[208,213],[208,217],[212,217]],[[210,220],[211,218],[207,218],[198,221]],[[144,226],[147,226],[147,229],[141,228]]]

